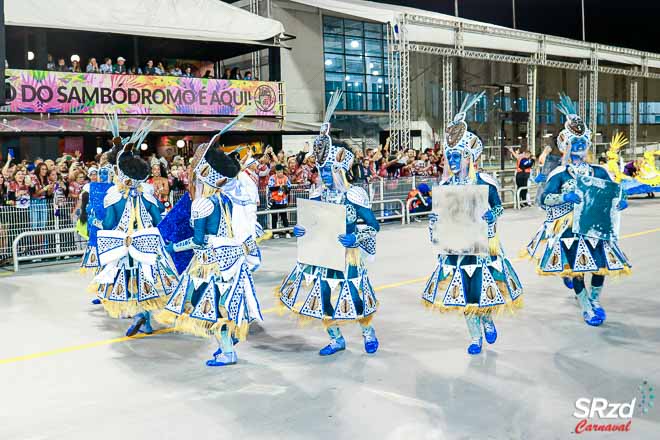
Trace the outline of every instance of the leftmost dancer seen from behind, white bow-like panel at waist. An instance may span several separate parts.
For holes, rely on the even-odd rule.
[[[177,280],[174,263],[156,228],[161,220],[158,201],[144,183],[149,164],[134,152],[150,126],[145,120],[129,139],[113,139],[110,161],[116,163],[117,183],[107,191],[105,215],[102,222],[97,221],[102,227],[97,233],[101,268],[94,281],[111,317],[133,317],[127,336],[142,327],[145,333],[152,332],[150,312],[167,304]]]

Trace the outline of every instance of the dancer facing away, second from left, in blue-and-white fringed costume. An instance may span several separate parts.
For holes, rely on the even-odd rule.
[[[253,201],[237,179],[240,162],[218,148],[220,136],[239,119],[200,145],[192,159],[194,235],[167,246],[170,252],[193,250],[194,255],[165,310],[156,315],[176,331],[215,337],[219,348],[206,361],[210,367],[235,364],[234,343],[247,337],[250,323],[263,320],[252,280],[261,262]]]

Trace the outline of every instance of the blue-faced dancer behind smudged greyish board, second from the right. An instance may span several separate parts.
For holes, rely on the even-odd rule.
[[[440,311],[461,311],[470,333],[469,354],[479,354],[482,337],[489,344],[497,339],[493,315],[503,309],[522,306],[522,284],[497,237],[497,220],[502,215],[497,182],[488,174],[478,173],[475,164],[483,151],[481,140],[468,131],[467,111],[477,103],[483,92],[469,95],[460,112],[448,125],[443,142],[445,179],[441,185],[486,185],[490,209],[482,219],[488,224],[489,255],[438,255],[438,265],[426,283],[423,303]],[[437,214],[431,214],[429,230],[434,236]]]

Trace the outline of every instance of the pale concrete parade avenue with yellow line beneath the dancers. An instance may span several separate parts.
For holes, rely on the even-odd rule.
[[[262,243],[255,283],[264,322],[238,344],[238,364],[224,368],[204,365],[212,339],[157,324],[152,336],[124,337],[130,321],[90,304],[92,275],[75,263],[3,271],[0,439],[576,438],[578,399],[639,404],[640,384],[660,386],[659,218],[660,200],[630,200],[620,244],[633,273],[606,279],[608,319],[589,327],[573,291],[518,258],[544,213],[505,210],[500,240],[525,304],[495,318],[498,340],[476,356],[466,353],[460,314],[421,304],[435,263],[426,219],[385,224],[378,235],[369,266],[380,302],[375,355],[348,325],[347,350],[320,357],[325,331],[278,313],[272,292],[294,264],[295,239]],[[660,408],[640,414],[590,419],[631,423],[629,432],[577,438],[657,439]]]

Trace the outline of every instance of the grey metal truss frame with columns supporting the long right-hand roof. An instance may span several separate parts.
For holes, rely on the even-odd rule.
[[[441,28],[452,33],[453,45],[435,45],[409,41],[406,26]],[[394,29],[394,25],[390,26]],[[636,146],[637,142],[637,79],[650,78],[660,80],[660,72],[649,69],[648,60],[651,58],[654,65],[658,64],[660,55],[640,52],[632,49],[623,49],[612,46],[603,46],[594,43],[574,41],[559,37],[550,37],[540,34],[489,26],[483,24],[465,23],[461,21],[449,21],[432,18],[423,15],[403,14],[396,24],[398,32],[394,30],[388,33],[388,60],[390,61],[390,127],[392,137],[390,146],[392,151],[405,149],[411,145],[410,141],[410,88],[409,88],[409,55],[410,52],[420,52],[442,57],[442,86],[443,86],[443,115],[445,123],[453,114],[453,72],[452,59],[466,58],[500,63],[523,64],[527,66],[527,98],[529,103],[536,102],[537,66],[551,67],[556,69],[575,70],[579,72],[579,106],[581,114],[587,118],[591,130],[596,133],[598,123],[598,76],[600,73],[611,75],[622,75],[631,78],[630,103],[632,121],[630,124],[630,145]],[[524,41],[536,44],[537,50],[529,55],[518,52],[504,52],[485,49],[466,48],[464,44],[464,33],[470,31],[483,34],[511,38],[512,41]],[[558,57],[549,54],[547,48],[563,47],[584,53],[581,61],[566,61],[566,57]],[[607,56],[599,56],[600,52]],[[589,54],[589,55],[586,55]],[[640,60],[640,65],[631,67],[616,67],[603,65],[603,60],[611,59],[635,59]],[[588,104],[587,104],[588,103]],[[528,123],[528,144],[530,148],[535,144],[536,105],[529,105],[530,121]]]

